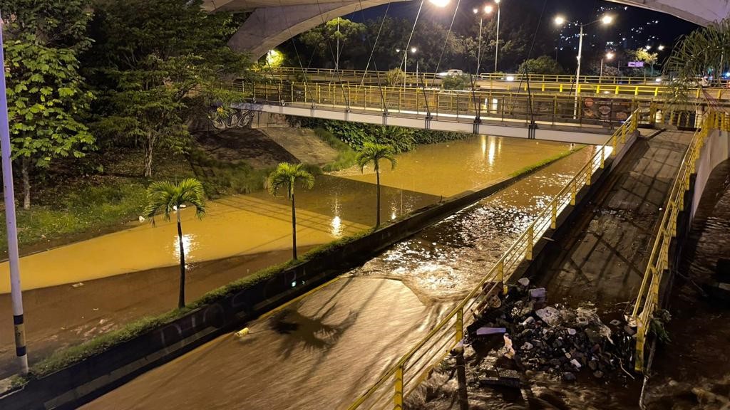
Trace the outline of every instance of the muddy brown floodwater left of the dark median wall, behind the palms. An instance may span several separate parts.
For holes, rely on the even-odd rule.
[[[399,155],[399,166],[383,174],[383,217],[488,185],[568,148],[491,136],[418,147]],[[350,170],[320,176],[314,189],[299,190],[299,252],[374,225],[373,182],[371,169],[364,175]],[[183,233],[188,301],[291,255],[289,204],[266,192],[211,201],[203,220],[186,209]],[[178,258],[176,227],[164,220],[155,227],[135,222],[124,231],[21,258],[31,363],[55,349],[172,309]],[[0,264],[0,312],[10,312],[8,278],[7,263]],[[0,329],[12,329],[10,314],[0,315]],[[0,332],[0,378],[12,374],[14,351],[12,332]]]

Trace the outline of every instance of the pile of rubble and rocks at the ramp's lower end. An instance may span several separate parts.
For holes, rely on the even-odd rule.
[[[529,281],[520,279],[469,326],[470,341],[500,349],[521,370],[545,371],[566,382],[582,371],[602,379],[626,369],[622,363],[631,360],[631,328],[613,320],[612,330],[592,309],[547,306],[546,299],[545,288],[530,289]]]

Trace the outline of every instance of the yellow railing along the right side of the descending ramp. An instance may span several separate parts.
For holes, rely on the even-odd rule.
[[[637,352],[634,366],[637,371],[644,371],[644,346],[650,328],[652,316],[659,306],[661,281],[664,271],[669,268],[669,249],[672,239],[677,235],[677,217],[684,210],[685,193],[690,187],[690,177],[695,173],[696,161],[707,136],[713,129],[730,131],[730,116],[723,112],[710,111],[705,114],[702,128],[694,134],[677,172],[669,199],[664,207],[664,215],[658,228],[654,247],[644,272],[644,279],[639,289],[634,312],[631,318],[637,325]]]

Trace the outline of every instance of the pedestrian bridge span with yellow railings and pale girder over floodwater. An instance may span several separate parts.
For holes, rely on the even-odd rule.
[[[228,122],[250,112],[315,117],[436,131],[602,144],[637,111],[639,123],[666,115],[694,126],[694,111],[661,112],[650,98],[559,96],[492,90],[439,90],[310,83],[234,83],[245,101]],[[234,125],[234,124],[229,124]]]

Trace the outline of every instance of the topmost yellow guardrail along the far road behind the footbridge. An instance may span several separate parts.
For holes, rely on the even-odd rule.
[[[387,71],[364,71],[364,70],[347,70],[347,69],[301,69],[299,67],[277,67],[275,69],[261,69],[263,75],[274,74],[274,75],[310,75],[325,77],[332,81],[356,79],[372,80],[373,78],[380,77],[381,81],[385,81]],[[439,77],[436,73],[420,71],[408,71],[408,75],[414,77],[418,75],[421,80],[438,80]],[[467,74],[468,75],[468,74]],[[575,75],[566,74],[509,74],[509,73],[482,73],[475,76],[478,80],[485,81],[515,81],[515,82],[562,82],[567,85],[575,85]],[[626,76],[610,76],[610,75],[583,75],[580,76],[581,84],[607,84],[607,85],[656,85],[657,79],[660,82],[666,82],[666,77],[626,77]],[[728,80],[715,80],[713,85],[717,85],[721,88],[726,88]]]

